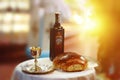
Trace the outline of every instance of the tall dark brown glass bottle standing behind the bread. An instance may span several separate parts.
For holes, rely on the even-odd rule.
[[[50,59],[51,61],[64,52],[64,29],[60,24],[60,15],[55,13],[55,24],[50,29]]]

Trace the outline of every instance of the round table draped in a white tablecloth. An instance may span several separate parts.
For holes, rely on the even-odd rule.
[[[51,62],[49,58],[39,58],[39,63]],[[80,72],[63,72],[54,70],[47,74],[27,74],[22,71],[22,66],[27,63],[33,63],[34,60],[30,59],[23,61],[16,66],[12,74],[11,80],[96,80],[94,68],[88,68]]]

